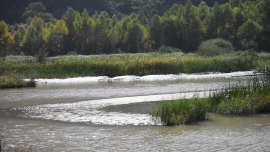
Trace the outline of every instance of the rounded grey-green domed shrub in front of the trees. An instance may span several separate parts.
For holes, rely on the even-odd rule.
[[[197,54],[201,56],[217,56],[233,51],[232,44],[224,39],[215,38],[203,41],[198,47]]]

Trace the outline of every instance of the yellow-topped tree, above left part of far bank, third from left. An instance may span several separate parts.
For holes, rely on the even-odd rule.
[[[63,41],[68,33],[68,29],[63,20],[51,24],[46,36],[47,50],[50,56],[58,55],[62,52]]]

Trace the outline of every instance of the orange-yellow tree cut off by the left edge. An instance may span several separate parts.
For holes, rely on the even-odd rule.
[[[0,56],[5,56],[11,52],[11,46],[14,43],[14,37],[8,32],[6,23],[0,21]]]

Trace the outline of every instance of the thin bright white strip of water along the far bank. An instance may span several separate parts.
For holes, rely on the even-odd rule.
[[[98,82],[98,81],[135,81],[135,80],[176,80],[176,79],[204,79],[204,78],[221,78],[231,76],[241,76],[253,74],[253,71],[239,71],[231,73],[208,73],[208,74],[161,74],[161,75],[123,75],[116,77],[108,76],[86,76],[86,77],[75,77],[65,79],[36,79],[37,83],[87,83],[87,82]],[[29,79],[24,79],[28,81]]]

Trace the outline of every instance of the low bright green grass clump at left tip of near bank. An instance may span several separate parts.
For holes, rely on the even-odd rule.
[[[163,125],[187,124],[207,119],[208,103],[204,99],[180,99],[164,101],[152,112],[153,117],[160,117]]]

